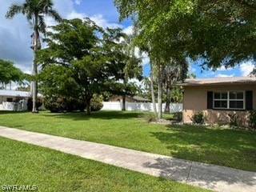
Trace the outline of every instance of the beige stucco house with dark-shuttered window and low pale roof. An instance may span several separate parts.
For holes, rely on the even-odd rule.
[[[203,112],[206,122],[229,122],[228,114],[238,114],[246,123],[248,110],[256,110],[256,78],[194,78],[177,83],[184,89],[183,121]]]

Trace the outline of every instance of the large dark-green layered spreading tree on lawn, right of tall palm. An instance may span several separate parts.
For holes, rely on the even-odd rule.
[[[48,47],[38,51],[42,63],[42,91],[47,97],[73,97],[86,103],[107,90],[114,76],[112,63],[102,47],[102,29],[89,18],[63,19],[48,32]]]

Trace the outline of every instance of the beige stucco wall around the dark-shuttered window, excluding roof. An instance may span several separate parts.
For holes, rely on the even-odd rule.
[[[256,85],[216,85],[216,86],[185,86],[183,97],[183,121],[191,122],[193,114],[203,111],[206,122],[228,122],[228,114],[238,114],[242,122],[246,122],[246,111],[207,110],[207,91],[253,90],[253,107],[256,109]]]

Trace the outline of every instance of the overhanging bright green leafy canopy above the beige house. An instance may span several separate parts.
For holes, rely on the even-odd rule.
[[[254,0],[114,0],[120,20],[133,18],[138,45],[164,58],[201,58],[207,67],[256,58]]]

